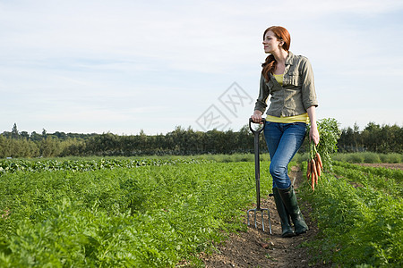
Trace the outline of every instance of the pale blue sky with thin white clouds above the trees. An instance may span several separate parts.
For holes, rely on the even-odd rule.
[[[318,119],[403,126],[403,1],[0,0],[0,132],[240,130],[288,29]]]

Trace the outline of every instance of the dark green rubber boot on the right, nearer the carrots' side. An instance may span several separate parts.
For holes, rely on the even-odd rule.
[[[309,230],[308,225],[306,225],[304,217],[301,214],[296,202],[296,193],[294,192],[294,188],[292,186],[284,189],[279,188],[279,196],[283,200],[288,214],[291,216],[291,220],[293,221],[294,228],[296,230],[296,235],[302,234]]]

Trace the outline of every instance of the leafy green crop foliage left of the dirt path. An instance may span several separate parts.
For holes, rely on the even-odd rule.
[[[254,165],[180,162],[4,172],[0,266],[201,265],[198,253],[224,239],[222,230],[244,230],[244,208],[256,195]],[[268,164],[262,178],[270,177]],[[270,186],[262,180],[262,195]]]

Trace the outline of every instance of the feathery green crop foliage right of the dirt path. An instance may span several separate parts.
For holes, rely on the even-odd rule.
[[[333,171],[314,193],[308,183],[303,189],[321,230],[310,243],[317,258],[347,267],[401,267],[403,173],[348,163],[335,163]]]

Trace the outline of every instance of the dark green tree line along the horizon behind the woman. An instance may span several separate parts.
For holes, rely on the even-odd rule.
[[[267,153],[263,135],[261,152]],[[307,139],[300,152],[306,151]],[[339,152],[403,153],[403,128],[370,122],[364,130],[357,125],[342,130]],[[0,134],[0,158],[63,156],[136,156],[136,155],[201,155],[253,153],[253,134],[249,126],[241,130],[196,131],[176,127],[167,134],[116,135],[113,133],[41,133],[19,131],[14,123],[11,131]]]

